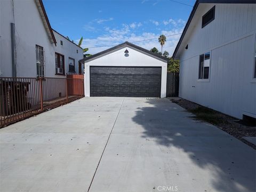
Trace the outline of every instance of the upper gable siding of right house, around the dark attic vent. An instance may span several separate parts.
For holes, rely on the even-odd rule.
[[[215,19],[202,28],[202,16],[214,5]],[[180,60],[253,34],[256,30],[255,18],[256,4],[199,4],[190,29],[182,41],[181,47],[184,49]]]

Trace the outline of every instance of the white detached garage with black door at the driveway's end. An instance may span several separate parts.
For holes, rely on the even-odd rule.
[[[85,96],[165,97],[167,58],[125,42],[80,62]]]

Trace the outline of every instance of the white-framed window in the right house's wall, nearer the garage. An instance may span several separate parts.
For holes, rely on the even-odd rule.
[[[209,79],[210,52],[199,56],[199,76],[198,79]]]

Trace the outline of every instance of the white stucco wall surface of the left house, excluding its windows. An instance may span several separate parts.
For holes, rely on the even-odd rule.
[[[83,59],[82,49],[56,32],[57,46],[52,44],[33,0],[13,2],[12,7],[12,1],[0,1],[0,77],[12,77],[11,22],[15,23],[17,77],[37,77],[36,45],[44,48],[45,77],[65,77],[55,76],[55,52],[65,55],[65,69],[68,69],[68,57],[73,57],[78,72],[78,60]],[[60,39],[63,47],[60,47]]]

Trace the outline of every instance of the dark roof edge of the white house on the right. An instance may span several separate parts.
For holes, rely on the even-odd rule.
[[[196,0],[194,6],[193,6],[193,9],[189,15],[189,18],[188,18],[188,21],[186,23],[186,26],[185,28],[183,29],[183,32],[181,34],[181,37],[180,37],[180,40],[178,41],[178,44],[173,52],[173,55],[172,55],[172,58],[174,59],[175,58],[175,55],[177,54],[178,52],[178,49],[180,47],[180,44],[182,43],[182,40],[184,38],[184,36],[186,35],[186,32],[188,30],[188,27],[189,27],[189,24],[191,22],[191,20],[193,19],[193,16],[196,12],[196,9],[198,7],[198,5],[200,3],[233,3],[233,4],[255,4],[256,1],[255,0]]]

